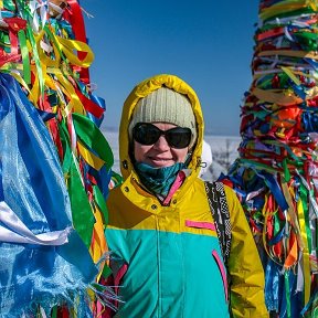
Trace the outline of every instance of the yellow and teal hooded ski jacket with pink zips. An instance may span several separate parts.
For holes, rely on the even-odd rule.
[[[140,184],[128,140],[136,103],[163,85],[188,96],[198,124],[190,174],[168,206]],[[198,178],[202,137],[199,99],[177,76],[163,74],[142,82],[124,105],[119,130],[124,182],[110,191],[107,201],[106,239],[115,292],[120,297],[115,317],[223,318],[230,317],[230,307],[234,317],[268,317],[257,250],[242,206],[227,187],[232,245],[226,274],[204,183]]]

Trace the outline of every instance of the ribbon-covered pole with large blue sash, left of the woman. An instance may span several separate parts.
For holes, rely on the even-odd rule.
[[[114,158],[82,8],[6,0],[0,13],[0,312],[97,317],[113,297],[100,283]]]

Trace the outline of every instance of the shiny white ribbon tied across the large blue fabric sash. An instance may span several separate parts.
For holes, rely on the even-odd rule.
[[[0,242],[57,246],[68,242],[67,236],[71,231],[72,226],[68,226],[62,231],[52,231],[35,235],[4,201],[0,202]]]

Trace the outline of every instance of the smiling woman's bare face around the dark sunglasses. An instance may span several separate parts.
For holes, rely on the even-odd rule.
[[[152,123],[161,130],[177,127],[167,123]],[[169,167],[177,162],[184,162],[188,155],[188,147],[182,149],[172,148],[167,142],[165,136],[150,146],[141,145],[134,140],[134,155],[137,162],[144,162],[155,168]]]

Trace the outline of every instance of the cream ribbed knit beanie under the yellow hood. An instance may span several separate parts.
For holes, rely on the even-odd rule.
[[[191,148],[197,140],[195,117],[191,103],[186,95],[167,87],[160,87],[139,99],[129,124],[129,139],[132,140],[132,128],[138,123],[169,123],[192,132]]]

